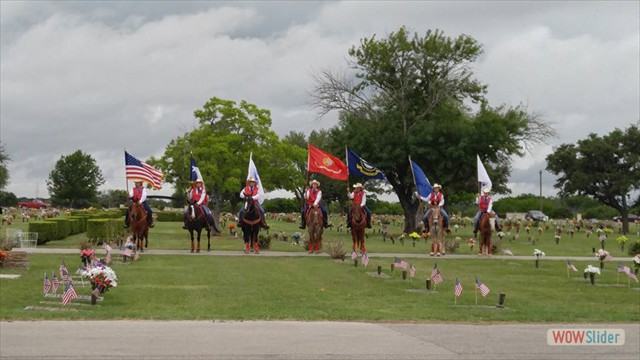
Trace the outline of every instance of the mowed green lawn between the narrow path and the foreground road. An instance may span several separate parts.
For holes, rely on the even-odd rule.
[[[595,259],[574,262],[580,272],[567,277],[564,261],[543,260],[536,269],[533,260],[405,258],[418,270],[411,281],[402,280],[399,271],[391,273],[389,258],[372,257],[365,269],[326,256],[142,255],[133,264],[113,264],[119,285],[94,307],[68,306],[78,312],[25,311],[25,306],[60,308],[59,298],[43,297],[42,277],[45,271],[57,271],[63,260],[74,272],[80,257],[32,254],[29,269],[1,270],[21,277],[0,280],[0,319],[640,321],[640,286],[634,282],[629,287],[614,263],[606,264],[596,286],[583,278],[582,269],[597,265]],[[415,292],[425,288],[436,260],[444,283],[433,293]],[[378,265],[390,278],[367,274]],[[454,305],[456,277],[464,292]],[[486,298],[474,292],[476,277],[491,289]],[[81,295],[91,291],[78,281],[76,288]],[[504,309],[495,307],[499,293],[506,294]]]

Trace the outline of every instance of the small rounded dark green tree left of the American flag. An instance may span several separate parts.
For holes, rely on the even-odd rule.
[[[47,189],[55,206],[83,207],[95,201],[104,184],[102,172],[89,154],[77,150],[63,155],[49,174]]]

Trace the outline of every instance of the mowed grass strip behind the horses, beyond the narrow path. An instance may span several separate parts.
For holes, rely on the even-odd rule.
[[[339,221],[339,219],[336,219],[334,223],[338,223]],[[268,232],[263,231],[263,234],[273,236],[275,233],[284,233],[288,239],[287,242],[284,242],[282,240],[272,238],[272,251],[304,251],[300,246],[292,245],[292,234],[294,232],[299,232],[303,236],[303,239],[300,240],[301,243],[306,235],[306,230],[298,229],[298,223],[270,220],[269,224],[271,229]],[[552,230],[553,223],[550,222],[549,225],[551,229],[545,230],[541,234],[538,232],[537,227],[530,230],[529,234],[527,234],[524,229],[521,229],[520,233],[516,233],[515,231],[505,231],[507,236],[502,240],[502,247],[509,248],[515,255],[527,256],[533,256],[534,249],[540,249],[548,256],[593,256],[593,249],[595,248],[597,250],[600,248],[598,235],[593,233],[591,236],[587,237],[584,228],[581,229],[580,232],[576,232],[573,237],[568,233],[563,233],[559,243],[556,244],[554,240],[555,234]],[[18,222],[11,226],[23,228],[24,231],[27,231],[27,223]],[[4,231],[4,228],[6,227],[7,226],[0,228],[0,231]],[[224,227],[221,230],[221,236],[211,237],[212,250],[237,251],[242,249],[242,232],[239,232],[237,236],[232,236],[230,235],[228,228]],[[428,246],[430,246],[431,240],[428,240],[427,242],[424,239],[420,239],[420,241],[415,243],[414,247],[413,241],[408,237],[404,238],[404,244],[398,240],[398,236],[402,233],[402,228],[400,226],[390,225],[388,230],[395,236],[395,243],[389,239],[386,239],[386,241],[383,239],[380,234],[379,226],[374,226],[373,229],[367,230],[366,246],[368,252],[409,254],[424,254],[428,252]],[[445,239],[449,240],[455,237],[460,238],[460,247],[456,250],[456,254],[477,254],[477,246],[473,249],[470,249],[467,246],[467,239],[473,236],[472,230],[471,226],[461,227],[456,232],[452,231],[451,235],[445,236]],[[627,234],[627,238],[629,239],[627,246],[636,241],[640,241],[640,235],[638,235],[640,232],[640,224],[630,224],[630,232],[630,234]],[[610,234],[605,243],[605,249],[614,257],[626,257],[630,260],[631,257],[627,254],[627,248],[625,247],[625,249],[622,250],[620,245],[616,242],[616,239],[620,235],[621,234],[618,233]],[[326,229],[323,237],[325,242],[331,239],[342,239],[346,246],[350,248],[351,235],[346,232],[346,230],[338,232],[337,228]],[[282,237],[280,238],[282,239]],[[493,238],[497,238],[495,233]],[[86,240],[86,235],[82,233],[70,236],[63,240],[51,241],[40,247],[79,249],[80,243]],[[206,249],[206,234],[202,235],[201,241],[202,248]],[[188,252],[190,249],[189,233],[182,229],[182,223],[158,222],[156,223],[156,226],[150,230],[149,249],[185,250],[185,252]]]

